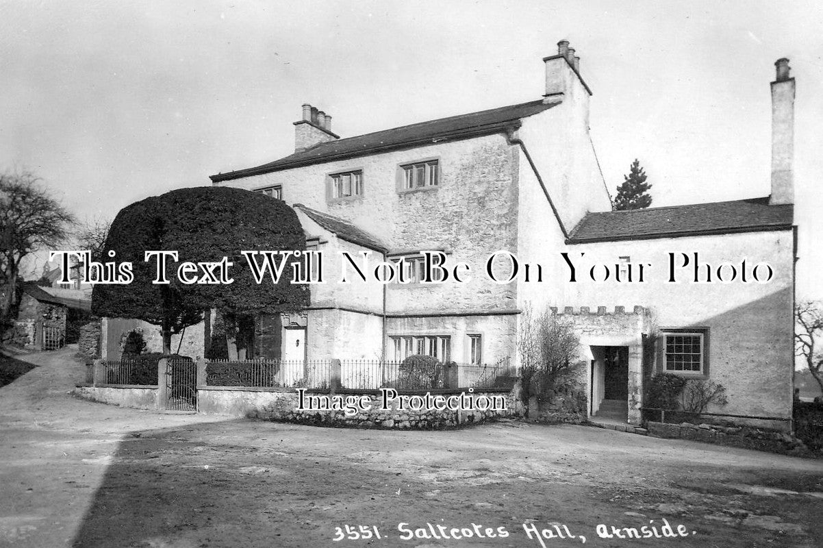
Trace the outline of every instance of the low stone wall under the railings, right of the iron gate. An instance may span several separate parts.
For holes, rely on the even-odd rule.
[[[379,392],[304,392],[304,410],[298,409],[300,395],[293,389],[239,387],[200,387],[198,389],[198,409],[202,413],[220,413],[247,416],[277,422],[299,424],[353,427],[385,428],[397,430],[443,430],[461,425],[471,425],[499,417],[512,416],[519,405],[511,392],[486,390],[482,392],[438,391],[431,392],[432,398],[462,397],[465,394],[472,401],[474,409],[458,411],[416,410],[413,407],[424,394],[402,394],[388,399],[384,408],[384,396]],[[309,398],[322,402],[337,402],[341,409],[334,411],[309,410]],[[401,401],[401,399],[403,401]],[[464,400],[465,402],[465,400]],[[487,402],[500,403],[500,410],[482,410]],[[346,412],[346,406],[350,406]],[[405,407],[402,407],[405,406]],[[356,412],[354,408],[356,409]]]

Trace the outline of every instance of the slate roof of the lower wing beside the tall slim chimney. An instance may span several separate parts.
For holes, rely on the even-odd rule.
[[[793,225],[793,206],[770,206],[769,198],[630,211],[588,213],[569,236],[570,244],[621,239],[672,238],[782,230]]]

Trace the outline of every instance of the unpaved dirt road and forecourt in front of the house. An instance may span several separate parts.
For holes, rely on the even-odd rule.
[[[83,376],[71,355],[21,358],[40,367],[0,388],[0,546],[823,544],[819,461],[584,426],[119,409],[68,394]]]

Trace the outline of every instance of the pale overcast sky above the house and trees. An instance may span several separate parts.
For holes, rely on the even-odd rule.
[[[0,0],[0,167],[110,219],[286,156],[305,102],[349,137],[537,99],[565,38],[612,192],[637,157],[654,206],[763,197],[788,57],[798,295],[823,298],[821,30],[819,2]]]

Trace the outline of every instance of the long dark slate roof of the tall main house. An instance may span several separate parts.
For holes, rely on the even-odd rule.
[[[217,183],[230,179],[240,179],[249,175],[286,170],[302,165],[319,164],[325,161],[342,160],[355,156],[364,156],[407,146],[420,146],[445,139],[472,137],[503,131],[520,118],[551,109],[558,103],[543,103],[542,100],[513,104],[498,109],[481,110],[470,114],[460,114],[449,118],[439,118],[429,122],[412,123],[400,128],[386,129],[380,132],[366,133],[358,137],[347,137],[323,142],[297,151],[290,156],[258,165],[257,167],[231,171],[230,173],[212,175],[210,179]]]

